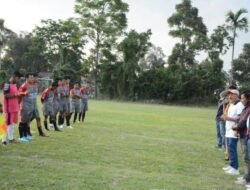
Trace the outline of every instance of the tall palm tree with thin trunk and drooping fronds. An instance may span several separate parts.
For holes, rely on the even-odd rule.
[[[234,59],[234,48],[235,48],[235,38],[237,37],[237,30],[240,31],[248,31],[248,20],[247,17],[242,17],[243,14],[246,14],[246,9],[240,9],[236,13],[229,11],[226,14],[226,23],[227,29],[233,32],[232,36],[232,66],[233,66],[233,59]],[[232,68],[233,70],[233,68]]]

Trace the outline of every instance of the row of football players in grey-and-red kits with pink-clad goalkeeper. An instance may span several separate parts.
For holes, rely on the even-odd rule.
[[[25,75],[26,81],[18,89],[17,83],[22,77],[19,72],[14,72],[8,82],[4,84],[4,102],[3,112],[5,121],[7,123],[7,133],[2,138],[2,144],[29,142],[32,139],[30,130],[30,123],[36,120],[39,136],[47,137],[44,133],[41,124],[41,118],[38,110],[38,83],[35,73],[27,73]],[[41,95],[43,103],[44,127],[49,130],[48,119],[50,126],[55,131],[61,131],[64,120],[66,126],[72,128],[70,125],[71,115],[75,113],[74,117],[79,116],[78,121],[83,121],[85,113],[88,110],[88,94],[90,87],[86,86],[80,88],[79,84],[75,84],[74,88],[70,90],[70,78],[57,78],[55,81],[44,90]],[[77,104],[77,105],[76,105]],[[18,126],[19,140],[14,139],[14,125],[18,123],[18,115],[20,113],[20,122]],[[57,123],[58,117],[58,123]],[[74,118],[74,122],[76,119]],[[59,127],[58,127],[59,125]]]

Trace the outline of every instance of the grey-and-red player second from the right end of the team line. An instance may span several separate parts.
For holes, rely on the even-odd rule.
[[[79,87],[79,82],[75,82],[74,88],[70,90],[70,108],[71,115],[74,113],[73,122],[76,122],[77,115],[81,111],[81,91]]]

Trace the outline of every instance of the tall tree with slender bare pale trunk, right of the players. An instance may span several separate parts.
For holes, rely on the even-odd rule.
[[[111,50],[127,27],[128,4],[122,0],[76,0],[75,12],[80,15],[80,24],[94,44],[94,78],[97,97],[97,67],[103,50]],[[103,55],[103,54],[102,54]]]

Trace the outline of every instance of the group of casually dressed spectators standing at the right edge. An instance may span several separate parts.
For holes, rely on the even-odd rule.
[[[245,174],[238,177],[236,184],[246,185],[250,190],[250,91],[241,95],[231,86],[221,92],[216,115],[217,148],[224,150],[229,165],[222,168],[226,174],[240,175],[238,141],[245,160]]]

